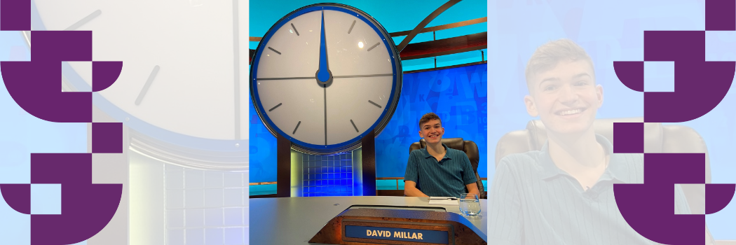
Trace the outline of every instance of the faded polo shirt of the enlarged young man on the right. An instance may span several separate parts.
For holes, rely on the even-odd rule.
[[[588,190],[553,163],[548,143],[503,157],[490,185],[488,244],[657,244],[626,223],[613,195],[615,183],[643,183],[643,155],[613,154],[610,141],[595,139],[610,158]],[[690,213],[680,186],[673,191],[674,212]]]

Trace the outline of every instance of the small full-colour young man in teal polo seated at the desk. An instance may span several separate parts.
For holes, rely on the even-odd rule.
[[[404,175],[406,196],[454,196],[475,193],[475,172],[465,152],[448,148],[442,143],[445,128],[435,113],[427,113],[419,121],[419,136],[427,147],[409,154]]]

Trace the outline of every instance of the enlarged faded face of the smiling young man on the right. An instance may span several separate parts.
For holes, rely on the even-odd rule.
[[[586,60],[562,60],[554,68],[530,77],[526,110],[539,116],[551,132],[584,132],[603,104],[603,88]]]

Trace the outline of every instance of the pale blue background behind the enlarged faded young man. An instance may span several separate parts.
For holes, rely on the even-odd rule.
[[[640,117],[643,94],[620,83],[613,61],[643,60],[643,30],[705,29],[704,1],[502,0],[489,2],[488,7],[489,159],[495,159],[494,149],[503,134],[524,129],[533,119],[523,104],[527,94],[523,74],[538,46],[559,38],[576,41],[592,57],[596,82],[604,88],[598,118]],[[736,60],[736,32],[706,36],[707,60]],[[662,72],[662,77],[668,76]],[[730,91],[706,116],[684,125],[696,129],[707,143],[712,182],[735,183],[736,94]],[[495,169],[488,171],[492,178]],[[736,240],[736,200],[708,215],[707,224],[716,239]]]

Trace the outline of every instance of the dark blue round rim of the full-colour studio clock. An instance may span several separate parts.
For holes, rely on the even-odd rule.
[[[261,104],[260,96],[258,96],[258,86],[255,86],[254,85],[255,77],[257,77],[257,74],[258,74],[258,69],[257,69],[258,68],[258,61],[260,60],[261,54],[263,53],[263,49],[264,49],[263,46],[262,46],[262,44],[263,43],[268,43],[268,41],[275,34],[275,31],[278,30],[278,29],[280,29],[281,26],[283,26],[284,24],[286,24],[292,18],[296,18],[297,16],[303,15],[305,13],[311,13],[311,12],[319,11],[319,10],[335,10],[335,11],[339,11],[339,12],[343,12],[343,13],[348,13],[350,15],[356,15],[356,17],[359,18],[359,19],[361,19],[361,21],[364,21],[369,26],[371,26],[371,28],[376,33],[378,33],[379,35],[381,35],[381,37],[383,37],[383,39],[384,39],[383,44],[386,47],[386,50],[392,56],[391,64],[392,64],[392,70],[393,70],[393,74],[394,74],[393,75],[393,82],[392,82],[391,96],[389,97],[389,102],[387,103],[387,106],[384,107],[383,112],[381,113],[381,116],[379,116],[378,119],[372,124],[372,126],[369,127],[368,129],[366,129],[361,135],[358,135],[357,137],[355,137],[353,139],[350,139],[348,141],[345,141],[343,143],[336,143],[336,144],[332,144],[332,145],[315,145],[315,144],[311,144],[311,143],[305,143],[305,142],[299,141],[299,140],[297,140],[297,139],[295,139],[293,137],[290,137],[287,133],[283,132],[280,128],[276,127],[275,124],[273,124],[273,121],[271,121],[271,119],[269,118],[269,116],[266,114],[266,112],[263,111],[263,105]],[[361,141],[362,138],[364,138],[369,132],[371,132],[373,129],[375,129],[375,127],[377,127],[378,124],[381,123],[381,121],[383,121],[383,119],[386,117],[386,114],[388,114],[389,112],[392,112],[392,110],[389,110],[389,107],[392,106],[392,104],[394,103],[394,99],[396,99],[395,98],[396,96],[394,96],[394,95],[395,95],[396,90],[397,90],[397,82],[398,82],[397,76],[400,75],[400,74],[397,73],[397,65],[396,65],[396,62],[397,62],[397,60],[400,59],[400,57],[398,56],[399,54],[395,51],[395,49],[392,49],[392,47],[389,46],[389,42],[393,43],[393,40],[390,39],[391,37],[388,35],[388,32],[386,32],[385,29],[383,29],[382,26],[380,28],[377,26],[377,25],[380,26],[380,24],[378,24],[378,21],[375,21],[374,18],[370,17],[369,15],[367,15],[366,13],[363,13],[360,10],[358,10],[359,12],[357,12],[355,10],[358,10],[358,9],[355,8],[355,7],[350,7],[348,5],[344,5],[344,4],[312,4],[312,5],[309,5],[309,6],[306,6],[306,7],[302,7],[300,9],[298,9],[298,10],[294,10],[293,12],[291,12],[291,13],[285,15],[283,18],[281,18],[280,21],[278,21],[276,24],[274,24],[274,26],[272,26],[269,29],[269,31],[266,32],[266,35],[263,36],[263,38],[261,39],[261,42],[258,43],[258,49],[256,50],[255,56],[253,57],[253,62],[251,64],[251,68],[250,68],[251,72],[250,72],[250,81],[249,81],[250,84],[251,84],[250,88],[251,88],[251,91],[252,91],[251,92],[252,100],[253,100],[253,102],[256,103],[256,106],[255,106],[256,108],[255,109],[259,111],[258,114],[260,114],[259,116],[261,116],[261,120],[265,121],[266,124],[270,128],[272,128],[272,130],[275,130],[277,134],[282,135],[284,138],[288,139],[292,143],[296,143],[297,146],[306,147],[306,148],[308,148],[308,149],[310,149],[310,150],[312,150],[314,152],[335,153],[336,152],[335,150],[344,149],[347,146],[351,146],[351,145],[353,145],[355,143],[358,143],[358,141]],[[366,16],[370,17],[371,19],[366,18]],[[374,21],[375,21],[375,23],[374,23]],[[380,133],[380,132],[375,132],[375,135],[378,135],[378,133]]]

